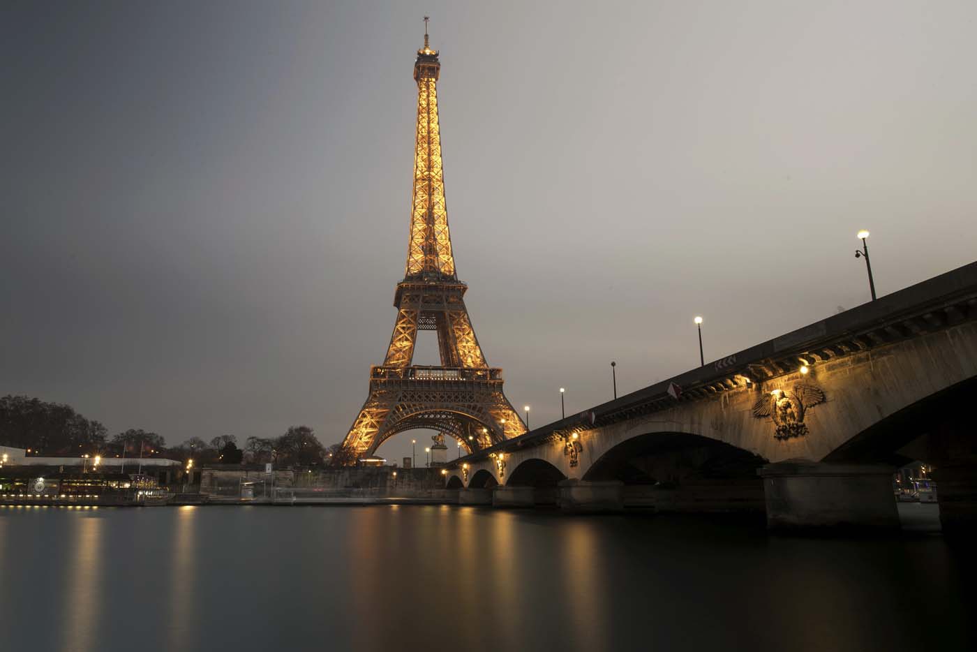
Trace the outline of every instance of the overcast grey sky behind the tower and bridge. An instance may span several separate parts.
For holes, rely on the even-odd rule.
[[[621,393],[697,365],[697,314],[711,360],[867,301],[861,228],[880,294],[977,257],[973,2],[5,2],[0,394],[340,441],[424,14],[458,274],[532,425],[611,360]]]

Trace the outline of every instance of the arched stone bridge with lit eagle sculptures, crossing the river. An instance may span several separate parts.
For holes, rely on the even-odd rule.
[[[896,466],[974,525],[977,262],[452,460],[461,503],[766,509],[771,527],[898,527]]]

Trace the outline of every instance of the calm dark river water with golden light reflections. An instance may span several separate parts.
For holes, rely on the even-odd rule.
[[[702,517],[0,507],[0,649],[973,650],[974,556]]]

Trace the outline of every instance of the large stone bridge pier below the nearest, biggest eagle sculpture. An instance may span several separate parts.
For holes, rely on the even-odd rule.
[[[767,464],[763,478],[770,529],[898,530],[892,468],[808,460]]]

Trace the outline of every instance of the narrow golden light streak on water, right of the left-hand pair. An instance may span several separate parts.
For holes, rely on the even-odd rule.
[[[186,650],[191,643],[191,607],[193,604],[195,574],[196,520],[199,510],[194,505],[183,505],[177,510],[170,545],[170,604],[167,649]]]

